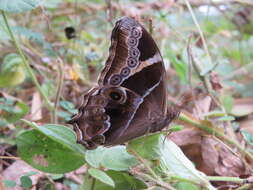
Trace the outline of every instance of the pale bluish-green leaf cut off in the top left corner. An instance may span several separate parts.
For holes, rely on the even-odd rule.
[[[38,0],[1,0],[0,10],[12,13],[25,12],[39,6]]]

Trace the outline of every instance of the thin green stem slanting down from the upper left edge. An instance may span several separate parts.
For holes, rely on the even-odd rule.
[[[25,55],[24,55],[23,51],[21,50],[21,48],[19,46],[18,41],[16,40],[15,36],[13,35],[13,32],[12,32],[10,26],[9,26],[8,19],[7,19],[6,15],[5,15],[5,12],[1,11],[1,13],[2,13],[2,16],[3,16],[3,20],[4,20],[5,26],[7,28],[7,31],[9,33],[12,41],[14,42],[14,45],[15,45],[15,47],[16,47],[16,49],[17,49],[17,51],[18,51],[18,53],[19,53],[19,55],[20,55],[20,57],[22,59],[24,67],[28,71],[29,76],[31,77],[31,79],[32,79],[33,83],[35,84],[37,90],[39,91],[40,95],[45,100],[45,103],[46,103],[48,109],[52,111],[54,109],[54,107],[53,107],[52,103],[50,102],[50,100],[48,99],[48,97],[46,96],[46,94],[44,93],[44,91],[42,90],[42,88],[41,88],[41,86],[39,84],[39,81],[37,80],[37,78],[36,78],[36,76],[35,76],[32,68],[30,67],[29,63],[27,62],[27,60],[25,58]]]

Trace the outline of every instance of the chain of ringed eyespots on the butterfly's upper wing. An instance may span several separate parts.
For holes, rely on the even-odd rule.
[[[140,51],[137,46],[139,39],[141,38],[142,31],[135,26],[128,29],[130,29],[130,36],[127,41],[129,46],[127,66],[121,69],[120,74],[115,74],[111,77],[110,84],[113,86],[119,85],[123,78],[126,78],[131,73],[131,68],[135,68],[139,63]]]

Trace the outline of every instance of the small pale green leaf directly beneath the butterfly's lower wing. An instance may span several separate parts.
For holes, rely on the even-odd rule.
[[[126,151],[125,146],[106,148],[101,164],[116,171],[128,170],[137,164],[137,160]]]

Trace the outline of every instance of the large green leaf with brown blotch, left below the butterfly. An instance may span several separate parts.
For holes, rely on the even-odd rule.
[[[71,129],[61,125],[26,123],[35,129],[16,138],[18,153],[34,168],[48,173],[65,173],[85,163],[83,147],[76,144]]]

